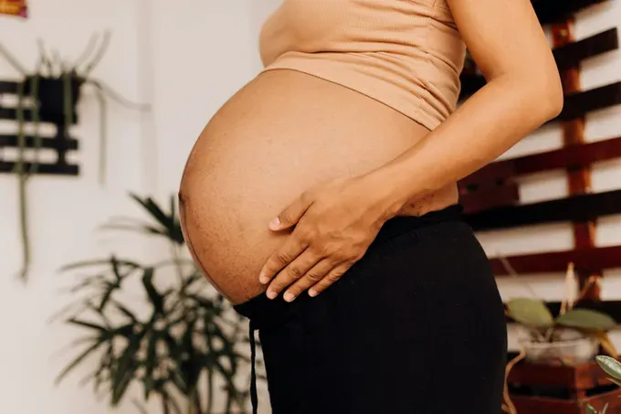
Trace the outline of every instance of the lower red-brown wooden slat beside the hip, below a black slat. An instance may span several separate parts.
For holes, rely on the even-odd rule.
[[[506,260],[519,275],[564,272],[570,261],[574,262],[578,270],[616,269],[621,268],[621,246],[524,254],[510,256]],[[489,261],[496,276],[509,274],[499,259],[492,258]]]

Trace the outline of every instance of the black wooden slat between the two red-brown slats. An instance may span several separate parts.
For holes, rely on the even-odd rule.
[[[476,197],[475,194],[472,195]],[[468,200],[469,201],[469,200]],[[468,212],[464,218],[475,231],[516,228],[563,221],[588,221],[621,214],[621,190]]]

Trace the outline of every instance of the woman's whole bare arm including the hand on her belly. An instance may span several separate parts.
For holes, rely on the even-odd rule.
[[[260,272],[268,297],[319,294],[362,257],[387,218],[493,161],[561,111],[561,80],[529,0],[448,4],[488,84],[394,160],[315,186],[272,219],[273,231],[293,231]]]

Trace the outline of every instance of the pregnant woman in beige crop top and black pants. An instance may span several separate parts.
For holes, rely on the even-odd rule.
[[[488,83],[455,111],[466,47]],[[561,111],[531,2],[284,0],[260,48],[180,207],[273,412],[499,413],[504,311],[456,183]]]

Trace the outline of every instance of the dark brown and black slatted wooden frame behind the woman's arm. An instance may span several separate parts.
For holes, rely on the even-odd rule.
[[[594,276],[595,281],[599,281],[606,269],[621,268],[621,246],[596,247],[594,238],[597,218],[621,214],[621,189],[593,194],[590,175],[591,165],[621,158],[621,137],[584,142],[585,115],[621,104],[621,82],[584,91],[579,81],[580,63],[618,49],[618,33],[616,28],[611,28],[575,42],[570,16],[587,5],[602,2],[533,1],[542,24],[558,22],[552,27],[553,55],[562,76],[565,101],[563,111],[552,122],[560,122],[563,147],[493,163],[459,182],[465,218],[477,231],[571,223],[574,249],[515,255],[504,260],[490,258],[492,271],[498,277],[508,274],[505,260],[518,277],[521,274],[563,274],[573,262],[582,287]],[[477,70],[469,70],[462,75],[461,97],[468,97],[483,85],[485,80]],[[564,170],[568,196],[521,204],[518,179],[551,170]],[[576,307],[608,313],[621,323],[621,301],[603,302],[599,283],[588,286],[586,299],[576,303]],[[561,303],[547,305],[554,314],[559,313]],[[508,317],[507,322],[513,321]],[[609,412],[616,412],[621,409],[621,389],[612,387],[605,377],[605,372],[595,362],[581,366],[538,366],[522,362],[512,368],[507,382],[511,400],[520,413],[586,414],[587,403],[596,409],[608,403]],[[550,392],[551,389],[557,392]]]

